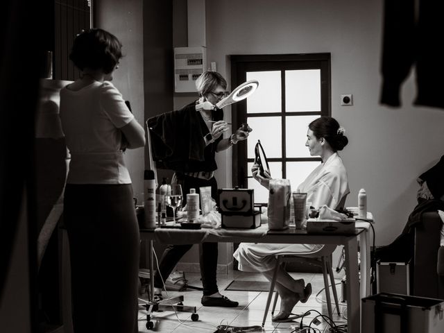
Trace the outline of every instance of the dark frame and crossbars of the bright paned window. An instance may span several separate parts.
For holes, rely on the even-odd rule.
[[[286,175],[286,162],[321,161],[320,157],[286,157],[286,130],[285,119],[287,116],[331,116],[332,93],[331,93],[331,55],[330,53],[303,53],[303,54],[273,54],[273,55],[232,55],[231,65],[231,87],[237,87],[246,82],[246,72],[251,71],[282,71],[282,157],[268,158],[268,162],[282,162],[282,175]],[[284,112],[285,110],[285,71],[298,69],[320,69],[321,70],[321,110]],[[260,84],[260,83],[259,83]],[[276,112],[248,114],[248,117],[274,117]],[[246,100],[232,104],[232,128],[239,128],[241,123],[247,119]],[[254,128],[253,128],[254,130]],[[241,188],[248,187],[248,162],[253,162],[247,156],[247,145],[234,145],[232,149],[232,184]]]

